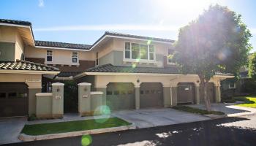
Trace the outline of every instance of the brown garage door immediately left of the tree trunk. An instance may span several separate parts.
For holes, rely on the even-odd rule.
[[[179,82],[177,87],[178,104],[195,104],[195,84],[193,82]]]

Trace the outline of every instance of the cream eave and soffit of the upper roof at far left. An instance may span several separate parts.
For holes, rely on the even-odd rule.
[[[18,32],[20,34],[20,37],[23,38],[24,42],[26,42],[27,45],[34,46],[34,35],[32,32],[31,26],[26,25],[18,25],[18,24],[9,24],[9,23],[0,23],[0,26],[11,26],[11,27],[17,27]]]

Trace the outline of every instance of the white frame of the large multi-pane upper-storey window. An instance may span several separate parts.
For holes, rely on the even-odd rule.
[[[126,43],[129,43],[129,50],[127,50],[126,49]],[[139,59],[133,59],[132,58],[132,43],[133,44],[138,44],[139,45]],[[140,58],[140,45],[147,45],[148,47],[147,47],[147,57],[148,57],[148,59],[141,59]],[[144,63],[155,63],[156,62],[156,48],[155,48],[155,46],[154,45],[152,45],[153,46],[153,49],[154,49],[154,52],[151,52],[150,50],[149,50],[149,46],[150,45],[148,45],[148,44],[146,44],[146,43],[140,43],[140,42],[127,42],[127,41],[125,41],[124,42],[124,57],[123,57],[123,61],[127,61],[127,62],[144,62]],[[129,51],[129,58],[126,58],[126,51]],[[150,59],[150,53],[153,53],[154,55],[154,59],[153,60],[151,60]],[[139,61],[138,61],[139,60]]]

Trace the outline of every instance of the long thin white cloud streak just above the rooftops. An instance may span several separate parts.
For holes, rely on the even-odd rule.
[[[55,26],[35,28],[34,31],[178,31],[178,28],[178,26],[114,24],[94,26]]]

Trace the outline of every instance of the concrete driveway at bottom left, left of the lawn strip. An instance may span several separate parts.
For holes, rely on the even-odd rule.
[[[0,145],[20,142],[18,135],[26,124],[25,117],[22,118],[0,118]]]

